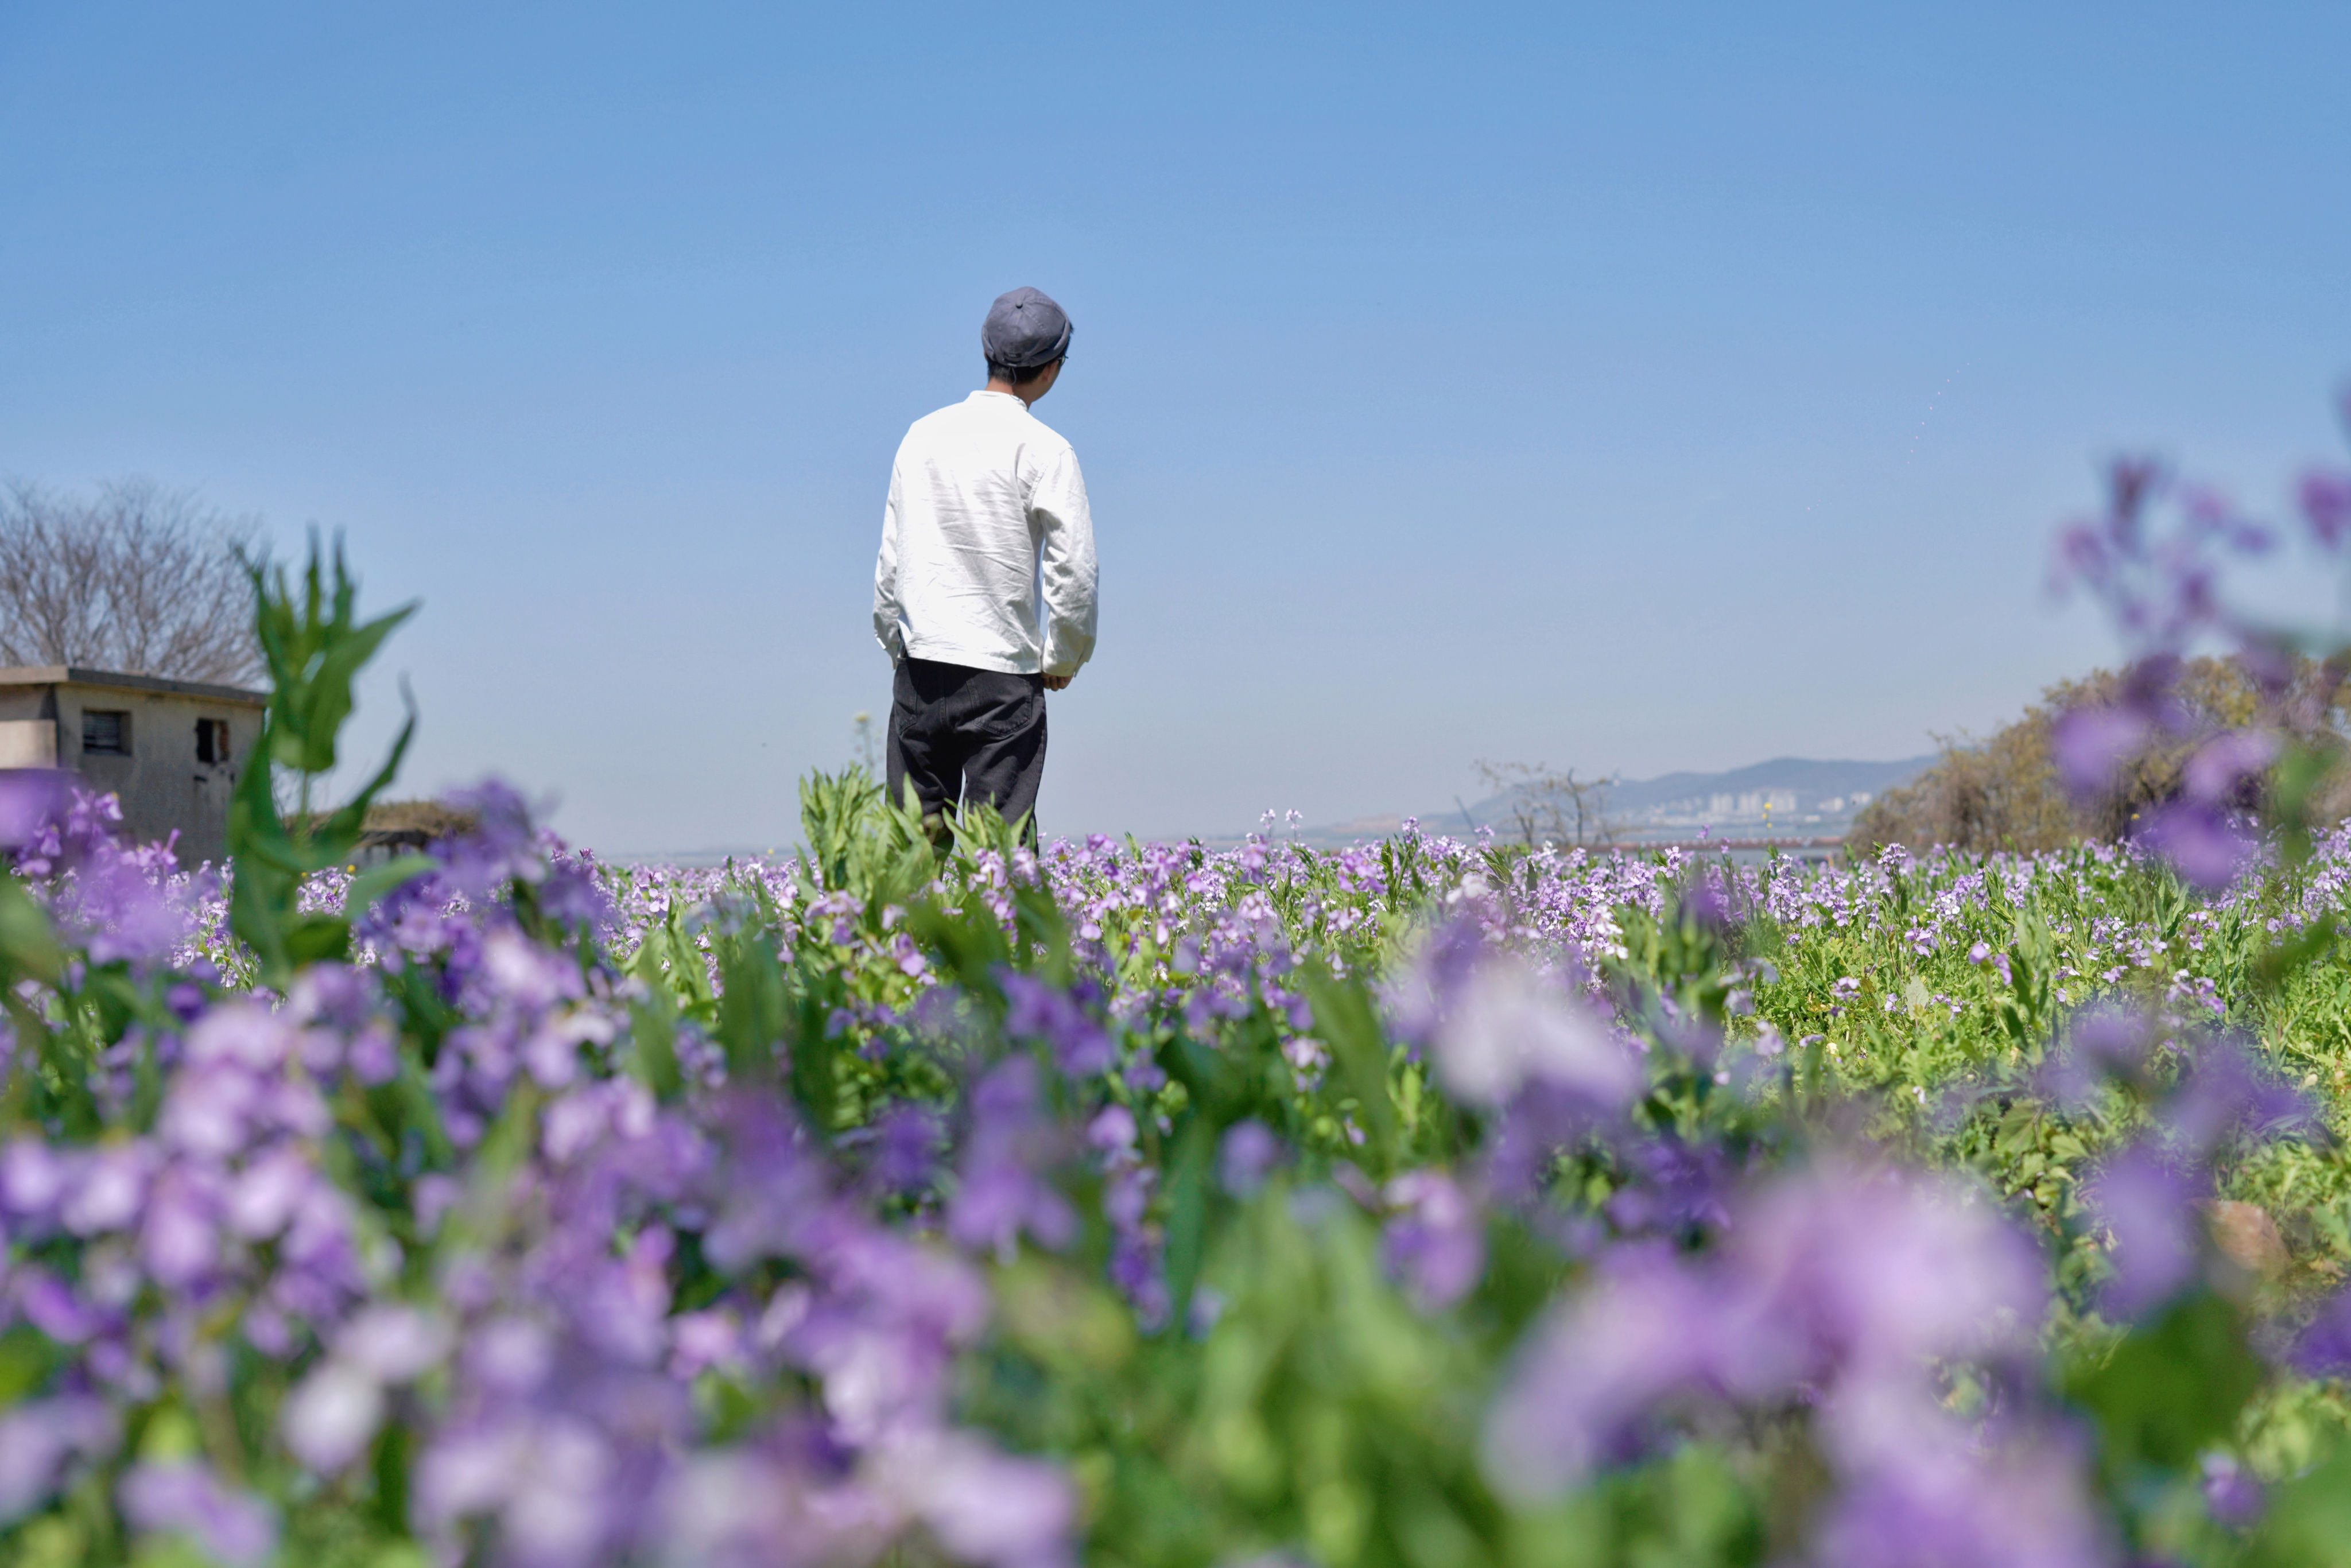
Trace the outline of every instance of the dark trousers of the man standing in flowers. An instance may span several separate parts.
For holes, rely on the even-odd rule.
[[[957,802],[994,806],[1006,823],[1027,816],[1037,842],[1037,783],[1044,778],[1044,677],[966,670],[900,658],[891,682],[889,797],[915,785],[922,813]]]

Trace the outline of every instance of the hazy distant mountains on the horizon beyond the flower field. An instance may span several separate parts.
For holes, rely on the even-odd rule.
[[[1815,762],[1810,757],[1773,757],[1728,773],[1665,773],[1662,778],[1627,778],[1608,790],[1606,816],[1625,842],[1686,839],[1700,827],[1714,837],[1749,837],[1770,827],[1773,835],[1838,837],[1853,816],[1886,790],[1907,785],[1935,757],[1900,762]],[[1352,823],[1302,827],[1298,839],[1317,846],[1380,839],[1404,825],[1401,816],[1366,816]],[[1462,835],[1491,825],[1512,832],[1509,797],[1488,795],[1422,811],[1427,832]]]

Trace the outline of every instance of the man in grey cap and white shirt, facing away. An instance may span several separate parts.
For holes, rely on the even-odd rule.
[[[945,837],[957,804],[1027,818],[1037,842],[1044,693],[1093,654],[1093,517],[1077,454],[1030,404],[1070,355],[1070,317],[1013,289],[980,324],[987,388],[898,442],[875,564],[875,637],[898,668],[889,795]]]

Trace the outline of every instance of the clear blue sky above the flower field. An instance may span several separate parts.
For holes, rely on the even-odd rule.
[[[2351,9],[0,0],[0,473],[346,529],[604,849],[788,842],[872,552],[1060,299],[1096,663],[1049,830],[1474,757],[1900,757],[2109,656],[2095,463],[2339,451]],[[397,705],[371,686],[367,726]]]

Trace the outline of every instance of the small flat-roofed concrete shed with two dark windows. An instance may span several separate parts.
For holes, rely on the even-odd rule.
[[[179,830],[179,863],[219,863],[228,795],[268,696],[66,665],[0,670],[0,769],[68,769],[122,799],[132,839]]]

